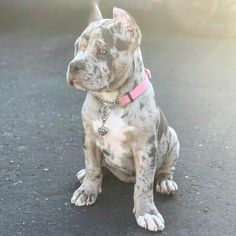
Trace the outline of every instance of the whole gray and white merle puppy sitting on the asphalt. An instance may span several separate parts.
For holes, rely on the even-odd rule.
[[[144,79],[141,32],[124,10],[114,8],[113,19],[103,19],[97,5],[94,19],[75,42],[67,81],[88,91],[82,107],[85,169],[81,186],[71,199],[76,206],[95,203],[102,191],[104,170],[124,182],[134,182],[133,212],[137,224],[151,231],[164,229],[153,199],[153,184],[161,194],[174,194],[179,156],[175,131],[156,105],[151,83],[126,106],[119,97]]]

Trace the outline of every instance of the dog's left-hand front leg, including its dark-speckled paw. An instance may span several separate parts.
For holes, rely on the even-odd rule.
[[[102,155],[89,135],[85,136],[84,155],[86,175],[83,183],[71,198],[71,203],[76,206],[88,206],[95,203],[98,194],[102,191]]]

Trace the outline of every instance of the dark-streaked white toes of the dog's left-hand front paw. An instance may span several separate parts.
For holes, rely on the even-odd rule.
[[[97,196],[97,193],[87,191],[84,188],[78,188],[71,198],[71,203],[76,206],[89,206],[95,203]]]

